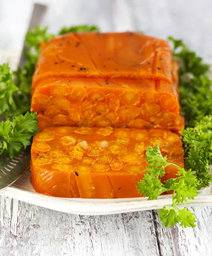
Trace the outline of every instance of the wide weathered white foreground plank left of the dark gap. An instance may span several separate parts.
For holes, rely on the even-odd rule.
[[[82,216],[0,198],[0,256],[159,255],[151,211]]]

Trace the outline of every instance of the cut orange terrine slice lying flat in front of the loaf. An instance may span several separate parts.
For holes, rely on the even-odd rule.
[[[46,128],[31,147],[31,183],[56,197],[133,198],[147,166],[145,148],[160,145],[168,161],[183,167],[182,142],[171,131],[135,128]],[[163,180],[177,169],[165,169]]]

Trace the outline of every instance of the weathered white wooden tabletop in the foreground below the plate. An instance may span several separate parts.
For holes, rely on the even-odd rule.
[[[212,208],[197,227],[163,227],[156,211],[82,216],[0,198],[0,256],[212,255]]]

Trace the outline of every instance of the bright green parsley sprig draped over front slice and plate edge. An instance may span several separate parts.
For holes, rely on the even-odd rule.
[[[172,192],[172,205],[164,207],[158,211],[164,226],[172,227],[180,223],[183,227],[195,227],[195,216],[188,209],[179,209],[177,204],[187,203],[188,199],[197,196],[199,180],[194,175],[195,171],[170,163],[167,157],[163,157],[159,146],[146,148],[146,159],[149,166],[144,173],[144,178],[139,182],[138,190],[141,195],[149,196],[148,200],[158,199],[164,192]],[[167,166],[175,166],[178,169],[179,177],[169,179],[165,183],[161,182],[161,177],[165,175],[164,169]]]

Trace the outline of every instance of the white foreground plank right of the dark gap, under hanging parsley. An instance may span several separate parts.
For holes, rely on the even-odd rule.
[[[197,226],[171,229],[163,227],[157,211],[153,211],[158,250],[162,256],[212,255],[212,207],[189,207],[195,213]]]

